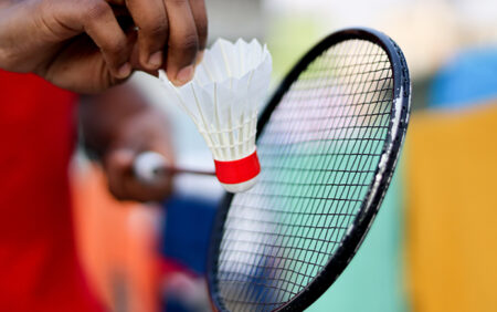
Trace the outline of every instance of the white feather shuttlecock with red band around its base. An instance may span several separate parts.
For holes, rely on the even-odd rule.
[[[271,72],[271,54],[257,40],[231,43],[222,39],[205,51],[190,83],[176,87],[159,71],[168,101],[180,105],[197,124],[228,191],[250,189],[261,171],[255,147],[257,108]]]

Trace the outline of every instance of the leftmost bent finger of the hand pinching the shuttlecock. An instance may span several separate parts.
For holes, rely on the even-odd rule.
[[[82,12],[84,31],[101,49],[110,73],[117,79],[128,77],[131,73],[128,62],[131,46],[110,6],[98,0],[87,1],[85,4]]]

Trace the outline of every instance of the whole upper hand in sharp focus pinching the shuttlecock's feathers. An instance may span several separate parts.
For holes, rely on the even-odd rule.
[[[205,41],[204,0],[0,2],[0,67],[80,93],[106,90],[134,70],[165,69],[184,84]]]

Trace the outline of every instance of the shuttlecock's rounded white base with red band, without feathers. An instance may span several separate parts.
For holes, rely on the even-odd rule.
[[[215,160],[215,175],[223,187],[231,193],[245,191],[257,181],[261,173],[257,152],[231,162]]]

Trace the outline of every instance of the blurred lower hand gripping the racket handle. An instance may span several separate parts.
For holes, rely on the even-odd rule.
[[[136,157],[142,152],[159,153],[169,164],[175,159],[166,116],[129,83],[84,97],[80,119],[85,144],[102,162],[114,197],[159,201],[170,195],[172,176],[163,175],[154,184],[144,184],[133,170]]]

